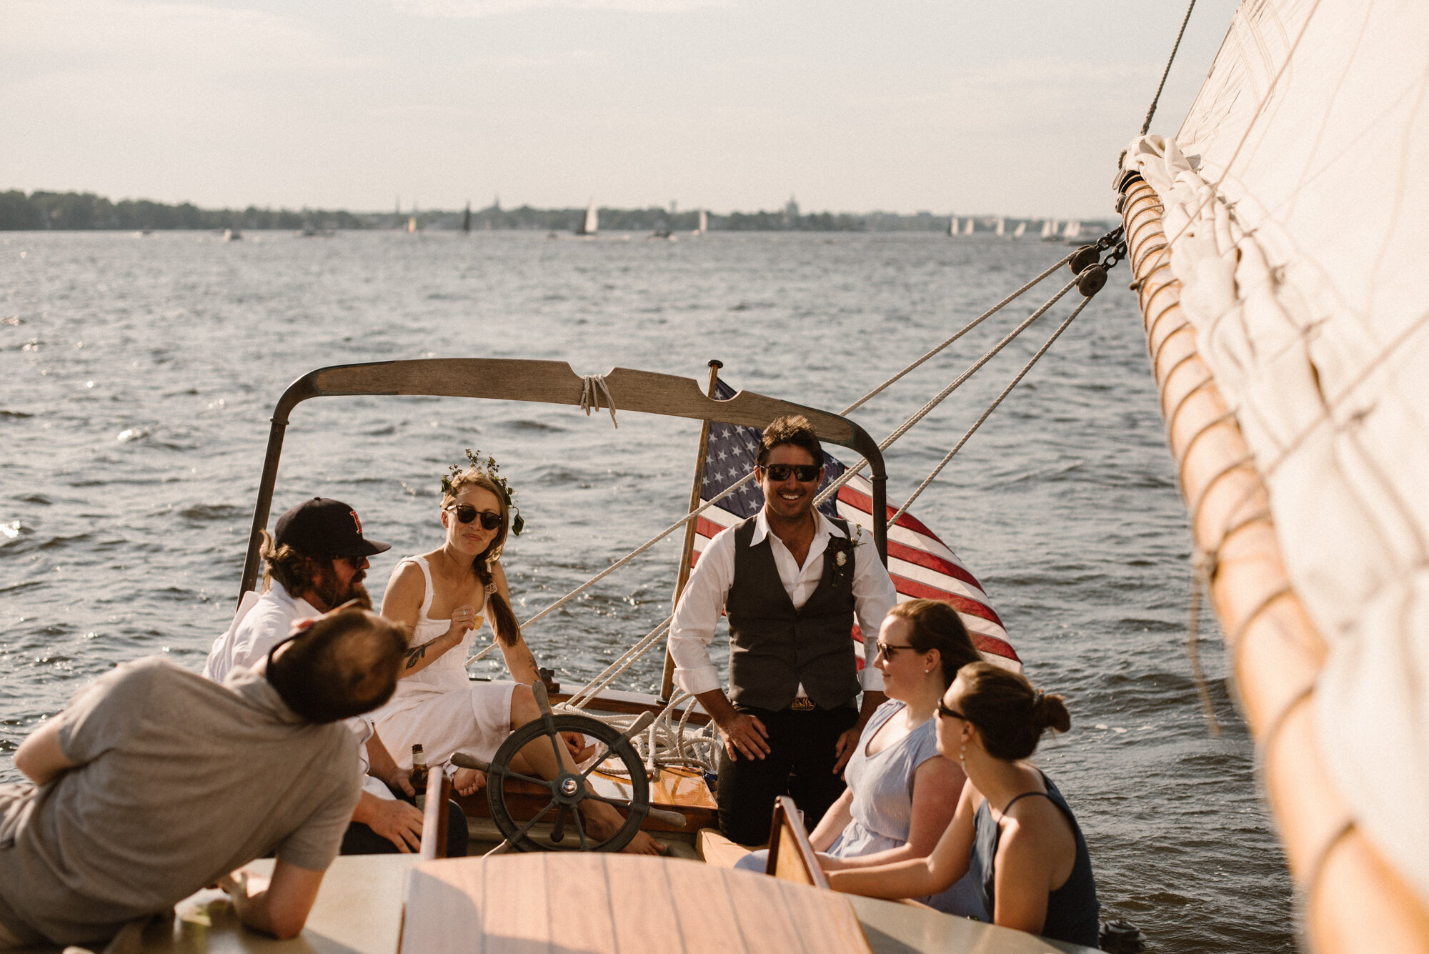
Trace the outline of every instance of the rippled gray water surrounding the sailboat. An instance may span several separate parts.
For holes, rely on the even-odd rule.
[[[913,234],[0,237],[0,751],[119,661],[203,664],[233,608],[269,414],[307,370],[476,356],[703,380],[720,358],[736,387],[836,410],[1063,251]],[[1027,674],[1067,697],[1073,731],[1040,761],[1086,831],[1103,914],[1159,951],[1288,951],[1285,861],[1219,653],[1205,656],[1222,737],[1189,677],[1185,516],[1126,280],[1115,273],[916,511],[983,581]],[[857,420],[882,437],[1013,323],[979,328]],[[890,450],[890,498],[1039,331],[1050,324]],[[682,513],[696,434],[569,407],[322,398],[293,414],[274,513],[313,494],[356,506],[393,544],[369,578],[380,597],[394,554],[439,541],[446,464],[480,447],[527,516],[507,573],[529,614]],[[676,560],[666,541],[533,627],[543,664],[567,684],[597,671],[669,611]],[[653,690],[659,670],[644,660],[629,687]]]

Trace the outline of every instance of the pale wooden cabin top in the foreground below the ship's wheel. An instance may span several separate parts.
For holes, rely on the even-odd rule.
[[[253,861],[246,867],[267,875],[273,863]],[[412,884],[404,888],[409,870]],[[500,933],[507,928],[497,928],[497,934],[490,935],[484,917],[477,934],[467,933],[473,930],[473,911],[482,910],[467,898],[463,887],[467,884],[496,885],[503,910],[492,927],[514,924],[510,934]],[[680,897],[674,887],[680,888]],[[413,890],[422,895],[417,904],[409,903],[406,913],[404,890],[409,898],[414,897]],[[600,898],[620,905],[619,925],[613,915],[606,915],[602,927]],[[737,917],[736,900],[743,905]],[[810,927],[813,913],[829,918],[827,923]],[[672,923],[672,917],[689,920]],[[730,933],[733,924],[740,925],[737,935]],[[806,927],[813,933],[805,934]],[[856,935],[853,928],[857,928]],[[404,930],[412,940],[399,951]],[[697,861],[577,853],[426,863],[412,854],[346,855],[327,870],[307,927],[290,941],[242,927],[221,891],[199,891],[177,905],[177,917],[171,921],[151,921],[133,954],[427,954],[446,950],[462,954],[603,954],[613,950],[610,943],[616,938],[622,951],[674,951],[679,947],[670,931],[682,937],[696,933],[689,951],[716,950],[720,954],[833,954],[839,950],[1095,954],[1092,948],[926,908],[817,891]],[[727,943],[712,947],[700,941],[706,934]],[[509,943],[514,938],[522,940]],[[845,944],[852,947],[842,947]],[[33,951],[59,954],[60,948]]]

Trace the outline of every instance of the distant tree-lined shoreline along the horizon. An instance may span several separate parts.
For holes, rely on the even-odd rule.
[[[689,233],[699,226],[699,210],[672,211],[649,209],[600,209],[602,231]],[[502,209],[489,206],[472,210],[473,231],[554,231],[569,233],[584,219],[584,209]],[[110,201],[93,193],[0,191],[0,231],[209,231],[224,229],[259,230],[392,230],[406,229],[412,220],[420,230],[460,230],[464,210],[430,211],[346,211],[327,209],[199,209],[191,203],[164,204],[144,199]],[[992,229],[997,216],[973,216],[980,230]],[[966,219],[965,219],[966,220]],[[1016,223],[1040,219],[1009,217]],[[1087,221],[1087,224],[1097,224]],[[940,231],[946,233],[949,216],[920,211],[912,216],[887,211],[800,214],[790,203],[780,211],[707,213],[710,231]],[[1029,226],[1029,231],[1032,231]],[[1032,236],[1029,236],[1032,237]]]

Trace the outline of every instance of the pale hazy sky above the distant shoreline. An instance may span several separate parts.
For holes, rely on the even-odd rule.
[[[1235,0],[1200,0],[1175,133]],[[1107,217],[1183,0],[0,0],[0,190]]]

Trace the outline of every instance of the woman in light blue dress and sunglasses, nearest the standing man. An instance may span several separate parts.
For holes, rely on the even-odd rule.
[[[957,670],[982,657],[957,611],[937,600],[893,607],[879,630],[875,666],[889,697],[869,720],[849,760],[849,787],[810,833],[826,871],[923,858],[947,828],[963,790],[962,768],[937,753],[937,701]],[[737,867],[763,871],[766,851]],[[986,921],[970,878],[942,894],[917,898]]]

